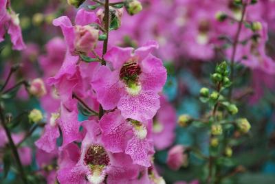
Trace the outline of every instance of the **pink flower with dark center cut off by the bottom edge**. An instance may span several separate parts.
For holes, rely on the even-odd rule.
[[[62,183],[102,183],[108,175],[108,182],[123,181],[137,177],[139,166],[133,165],[129,156],[123,153],[111,154],[102,145],[100,128],[96,121],[83,122],[85,138],[81,151],[74,143],[61,152],[58,181]]]

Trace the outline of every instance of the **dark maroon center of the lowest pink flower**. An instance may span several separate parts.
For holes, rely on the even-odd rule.
[[[109,165],[110,159],[102,146],[90,146],[85,154],[86,165]]]

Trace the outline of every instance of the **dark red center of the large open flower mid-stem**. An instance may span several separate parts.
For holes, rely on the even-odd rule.
[[[137,83],[140,73],[142,71],[137,62],[127,62],[120,69],[120,80],[123,80],[126,84]]]

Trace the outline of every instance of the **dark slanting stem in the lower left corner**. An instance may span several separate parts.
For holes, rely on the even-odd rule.
[[[5,130],[5,134],[8,137],[8,141],[10,143],[10,148],[12,148],[12,154],[14,155],[14,159],[17,162],[17,166],[18,166],[18,170],[19,170],[19,174],[21,176],[21,179],[22,179],[24,184],[27,184],[28,181],[27,181],[27,178],[25,177],[25,173],[24,173],[24,170],[23,170],[22,163],[20,161],[20,157],[19,157],[19,154],[18,154],[18,151],[17,151],[17,147],[15,146],[14,141],[12,140],[12,135],[10,133],[10,130],[8,129],[8,126],[5,124],[5,117],[3,115],[2,110],[3,109],[0,108],[1,124],[2,124],[2,126]]]

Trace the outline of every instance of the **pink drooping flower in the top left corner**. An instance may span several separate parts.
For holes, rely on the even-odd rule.
[[[0,0],[0,42],[4,40],[5,30],[8,30],[8,34],[10,34],[12,49],[25,49],[19,25],[19,14],[12,10],[9,0]]]

